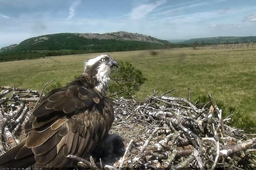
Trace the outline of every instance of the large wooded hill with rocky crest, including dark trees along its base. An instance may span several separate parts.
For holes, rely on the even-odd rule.
[[[19,45],[3,47],[0,62],[78,53],[167,49],[170,46],[171,43],[166,40],[130,32],[59,33],[33,37]]]

